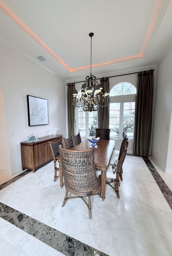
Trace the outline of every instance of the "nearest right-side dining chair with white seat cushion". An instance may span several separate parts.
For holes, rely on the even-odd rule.
[[[107,168],[107,171],[106,171],[106,184],[109,184],[109,186],[111,186],[115,190],[117,198],[120,198],[119,177],[120,177],[121,168],[125,160],[126,154],[127,154],[127,149],[125,148],[118,162],[116,173],[113,173],[112,168],[110,166]],[[97,176],[101,175],[101,170],[97,169],[96,175]],[[111,185],[111,183],[114,183],[114,187]]]

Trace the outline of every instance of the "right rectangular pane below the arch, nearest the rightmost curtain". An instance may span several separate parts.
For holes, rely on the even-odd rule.
[[[123,138],[125,135],[127,135],[128,138],[133,139],[134,113],[135,102],[124,102]]]

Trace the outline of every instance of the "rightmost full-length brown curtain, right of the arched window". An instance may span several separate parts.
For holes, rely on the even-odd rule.
[[[152,127],[153,70],[138,73],[135,101],[134,155],[148,157]]]

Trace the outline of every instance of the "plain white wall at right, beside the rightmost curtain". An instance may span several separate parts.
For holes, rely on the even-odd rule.
[[[172,49],[163,59],[157,72],[155,118],[153,126],[152,156],[164,172],[172,173]],[[169,136],[170,134],[170,136]]]

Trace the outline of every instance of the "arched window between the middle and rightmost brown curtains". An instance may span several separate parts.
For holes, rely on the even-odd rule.
[[[123,82],[110,91],[110,138],[122,140],[125,135],[133,140],[136,88]]]

